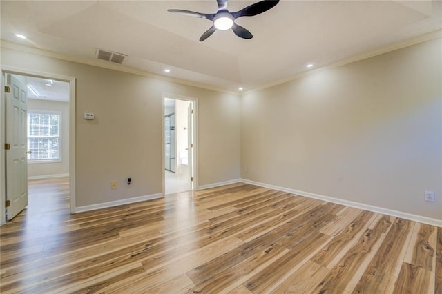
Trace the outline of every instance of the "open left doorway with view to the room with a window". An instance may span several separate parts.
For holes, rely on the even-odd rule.
[[[6,117],[5,141],[17,141],[18,133],[22,138],[18,140],[19,144],[10,144],[10,150],[6,150],[3,161],[5,165],[1,174],[6,183],[6,195],[2,195],[2,198],[6,198],[7,206],[4,219],[12,219],[23,208],[27,208],[27,214],[32,210],[32,215],[48,213],[50,209],[69,210],[72,199],[67,198],[63,206],[59,207],[56,205],[59,202],[46,197],[52,193],[50,189],[40,189],[39,193],[35,193],[34,187],[39,186],[39,182],[47,184],[48,179],[59,179],[65,183],[65,187],[69,187],[72,155],[70,88],[73,81],[21,73],[4,73],[3,81],[8,85],[3,101]],[[21,111],[18,119],[14,118],[17,113],[15,92],[23,93],[19,95]],[[15,154],[22,153],[25,154],[24,158],[15,160]],[[19,161],[22,163],[16,164]],[[17,166],[21,166],[19,171]],[[16,201],[19,198],[24,200]]]

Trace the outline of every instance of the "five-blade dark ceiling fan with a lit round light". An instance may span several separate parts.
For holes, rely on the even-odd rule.
[[[279,0],[264,0],[257,3],[253,3],[251,6],[247,6],[246,8],[242,8],[237,12],[230,12],[227,10],[227,2],[229,0],[217,0],[218,2],[218,12],[216,13],[200,13],[189,10],[181,10],[181,9],[168,9],[167,11],[173,13],[179,13],[186,15],[188,17],[199,17],[201,19],[209,19],[213,21],[213,25],[209,30],[206,30],[204,34],[201,35],[200,41],[204,41],[209,38],[215,30],[229,30],[230,28],[233,30],[235,35],[244,39],[251,39],[253,35],[247,29],[242,28],[242,26],[238,26],[235,23],[235,19],[238,17],[253,17],[254,15],[260,14],[262,12],[266,12],[273,6],[278,4]]]

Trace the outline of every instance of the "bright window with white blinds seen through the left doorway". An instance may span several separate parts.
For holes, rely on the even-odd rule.
[[[59,112],[28,112],[29,161],[59,161],[60,119]]]

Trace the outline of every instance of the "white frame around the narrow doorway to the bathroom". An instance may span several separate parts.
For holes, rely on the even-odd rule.
[[[164,175],[164,150],[166,148],[166,144],[164,143],[164,99],[177,99],[184,100],[193,103],[193,157],[192,157],[192,165],[193,165],[193,190],[198,190],[198,99],[193,97],[186,97],[182,95],[175,95],[169,93],[163,93],[162,97],[162,114],[161,114],[161,177],[162,177],[162,195],[166,195],[166,177]]]

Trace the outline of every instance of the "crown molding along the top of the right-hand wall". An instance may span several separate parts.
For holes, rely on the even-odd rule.
[[[418,43],[423,43],[425,41],[430,41],[432,39],[437,39],[439,37],[442,37],[442,29],[435,30],[434,32],[429,32],[427,34],[420,35],[420,36],[417,36],[417,37],[414,37],[414,38],[411,38],[411,39],[406,39],[406,40],[403,40],[403,41],[398,41],[398,42],[395,42],[395,43],[391,43],[391,44],[389,44],[387,46],[383,46],[381,48],[377,48],[377,49],[374,49],[374,50],[369,50],[367,52],[363,52],[361,54],[354,55],[352,57],[348,57],[348,58],[336,61],[334,63],[330,63],[330,64],[328,64],[326,66],[321,66],[321,67],[316,68],[314,70],[308,70],[308,71],[305,71],[305,72],[300,72],[300,73],[298,73],[296,75],[292,75],[290,77],[285,77],[284,79],[278,79],[276,81],[272,81],[269,84],[265,84],[265,85],[258,86],[256,88],[252,88],[250,90],[244,91],[243,93],[253,92],[253,91],[257,91],[257,90],[264,90],[266,88],[271,88],[271,87],[274,87],[274,86],[278,86],[280,84],[287,83],[288,81],[294,81],[296,79],[300,79],[302,77],[306,77],[307,75],[312,75],[314,73],[317,73],[317,72],[320,72],[320,71],[323,71],[323,70],[329,70],[329,69],[332,69],[332,68],[337,68],[339,66],[345,66],[346,64],[349,64],[349,63],[353,63],[353,62],[356,62],[356,61],[361,61],[363,59],[369,59],[370,57],[374,57],[376,55],[381,55],[381,54],[384,54],[384,53],[387,53],[387,52],[392,52],[394,50],[398,50],[398,49],[406,48],[406,47],[409,47],[409,46],[413,46],[413,45],[416,45]]]

